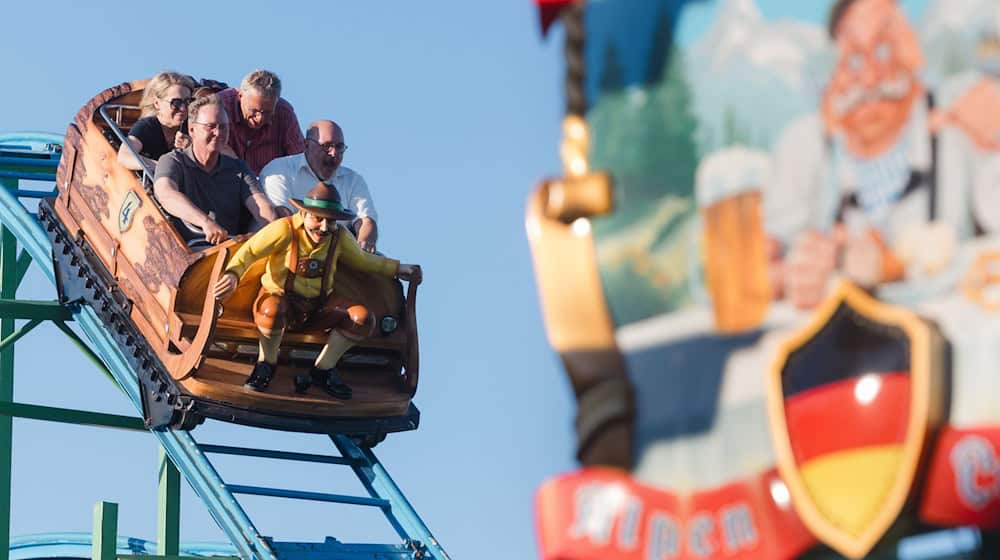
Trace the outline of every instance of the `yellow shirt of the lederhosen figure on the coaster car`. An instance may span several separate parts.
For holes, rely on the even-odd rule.
[[[287,219],[275,220],[248,239],[233,255],[226,266],[226,272],[233,272],[242,278],[243,273],[251,264],[267,257],[267,270],[261,277],[260,283],[270,293],[284,293],[285,278],[288,276],[288,249],[291,245],[292,235],[299,236],[299,261],[315,259],[324,262],[327,251],[330,249],[330,240],[334,237],[339,238],[337,246],[334,248],[335,253],[330,262],[330,269],[326,271],[328,293],[322,294],[324,297],[333,290],[333,278],[337,272],[338,261],[342,261],[356,270],[382,276],[393,277],[399,271],[398,260],[366,253],[361,250],[354,235],[346,227],[338,224],[337,230],[339,232],[337,235],[330,235],[317,245],[309,239],[305,228],[302,227],[302,213],[296,212],[292,216],[291,223]],[[322,277],[306,278],[301,274],[296,274],[292,291],[304,298],[315,298],[320,296],[322,284]]]

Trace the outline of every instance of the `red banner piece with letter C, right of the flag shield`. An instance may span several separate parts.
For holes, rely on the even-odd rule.
[[[920,518],[934,525],[1000,528],[1000,427],[941,431]]]

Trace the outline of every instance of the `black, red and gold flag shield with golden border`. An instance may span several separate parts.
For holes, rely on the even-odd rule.
[[[867,554],[911,497],[945,406],[944,341],[843,282],[768,376],[778,468],[796,511],[841,554]]]

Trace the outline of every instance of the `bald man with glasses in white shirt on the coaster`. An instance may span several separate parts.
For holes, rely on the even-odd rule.
[[[271,160],[260,172],[260,184],[278,214],[290,216],[289,199],[301,199],[317,182],[337,189],[344,207],[357,214],[345,225],[354,232],[358,244],[369,253],[378,241],[378,213],[364,177],[344,167],[344,131],[333,121],[316,121],[306,130],[306,151]]]

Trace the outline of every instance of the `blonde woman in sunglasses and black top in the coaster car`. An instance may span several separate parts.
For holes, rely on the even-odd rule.
[[[188,104],[194,80],[177,72],[160,72],[146,84],[140,108],[142,118],[132,126],[128,142],[146,166],[153,170],[160,156],[187,145]],[[124,144],[118,149],[118,162],[141,171],[142,166]]]

